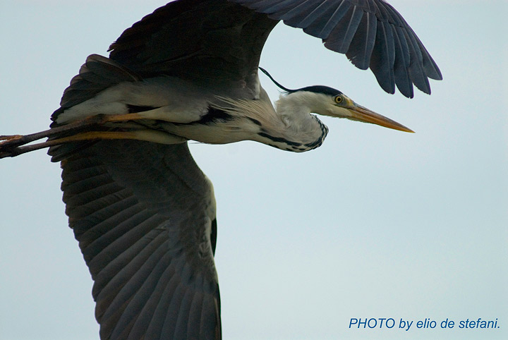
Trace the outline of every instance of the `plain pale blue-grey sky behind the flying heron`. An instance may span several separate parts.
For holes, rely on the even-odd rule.
[[[388,95],[282,24],[261,66],[286,87],[336,87],[415,134],[325,117],[327,140],[303,154],[191,142],[217,198],[224,339],[507,339],[508,2],[389,2],[441,68],[433,95]],[[2,0],[0,134],[47,128],[86,56],[162,5]],[[44,151],[0,161],[2,340],[98,339],[59,187]],[[351,317],[397,325],[349,329]],[[478,317],[500,328],[439,326]],[[438,325],[406,332],[401,318]]]

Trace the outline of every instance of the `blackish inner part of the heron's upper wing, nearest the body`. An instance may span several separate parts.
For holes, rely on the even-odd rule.
[[[125,30],[109,57],[143,78],[255,82],[277,22],[226,0],[174,1]]]

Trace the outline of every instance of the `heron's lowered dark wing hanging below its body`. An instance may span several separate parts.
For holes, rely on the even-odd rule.
[[[213,190],[187,144],[104,140],[61,165],[101,339],[220,339]]]

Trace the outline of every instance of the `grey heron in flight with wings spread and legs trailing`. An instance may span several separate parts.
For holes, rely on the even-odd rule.
[[[430,94],[437,64],[383,0],[176,0],[92,54],[48,130],[0,136],[0,158],[49,147],[94,281],[100,339],[222,339],[217,205],[188,141],[322,145],[317,115],[413,132],[324,85],[291,90],[260,68],[279,23],[374,73],[388,93]],[[259,71],[282,94],[272,104]],[[45,142],[29,144],[42,138]]]

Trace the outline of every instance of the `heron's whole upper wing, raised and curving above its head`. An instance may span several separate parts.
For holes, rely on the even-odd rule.
[[[386,92],[397,85],[413,97],[414,84],[430,94],[428,78],[442,79],[406,20],[382,0],[174,1],[123,32],[110,58],[143,76],[250,82],[279,20],[321,38],[358,68],[370,68]]]

